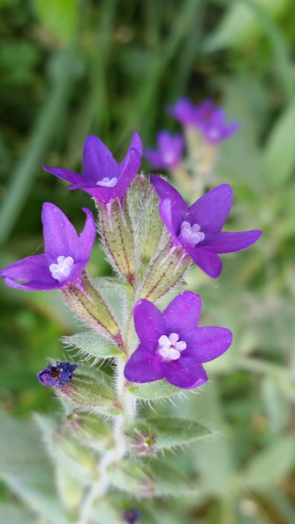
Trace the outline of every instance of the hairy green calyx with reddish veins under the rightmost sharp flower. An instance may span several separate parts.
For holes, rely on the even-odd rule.
[[[183,249],[173,248],[169,242],[146,273],[139,298],[155,302],[180,283],[191,264],[191,258],[183,256]]]

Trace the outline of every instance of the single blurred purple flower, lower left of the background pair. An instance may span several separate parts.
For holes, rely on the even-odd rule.
[[[157,135],[157,149],[145,149],[144,155],[155,169],[171,169],[180,165],[184,149],[182,135],[161,131]]]

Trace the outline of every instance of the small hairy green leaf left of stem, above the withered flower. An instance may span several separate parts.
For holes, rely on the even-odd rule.
[[[114,342],[108,340],[97,331],[86,331],[72,336],[62,337],[62,342],[78,347],[83,354],[94,358],[112,358],[122,354]]]

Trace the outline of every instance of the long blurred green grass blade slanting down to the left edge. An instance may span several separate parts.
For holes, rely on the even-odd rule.
[[[18,163],[8,184],[0,210],[0,244],[13,230],[26,202],[37,169],[41,168],[50,140],[58,127],[58,118],[69,99],[75,50],[73,47],[59,53],[54,69],[54,84],[41,108],[35,129],[28,140],[27,150]]]

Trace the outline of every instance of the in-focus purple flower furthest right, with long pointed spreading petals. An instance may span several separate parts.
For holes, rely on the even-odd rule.
[[[222,184],[204,194],[189,208],[172,185],[156,175],[151,175],[156,192],[161,198],[159,212],[175,246],[182,246],[184,253],[210,277],[222,271],[218,253],[234,253],[254,244],[262,231],[238,233],[222,231],[233,203],[233,190]]]

